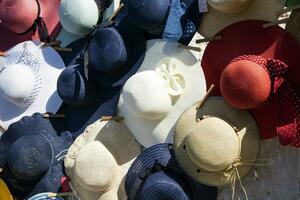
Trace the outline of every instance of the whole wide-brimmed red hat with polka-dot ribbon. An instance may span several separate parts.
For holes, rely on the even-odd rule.
[[[224,28],[216,34],[222,39],[207,45],[201,65],[207,85],[215,85],[212,95],[223,93],[229,104],[249,109],[262,139],[279,135],[282,144],[299,147],[300,46],[284,29],[263,28],[265,23],[247,20]],[[249,60],[241,55],[257,57]],[[228,74],[221,78],[223,70]],[[240,77],[232,78],[234,70]],[[229,84],[239,87],[232,89]]]

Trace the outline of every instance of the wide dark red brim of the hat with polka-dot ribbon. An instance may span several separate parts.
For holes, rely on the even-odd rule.
[[[248,20],[232,24],[217,33],[222,35],[223,39],[208,43],[201,66],[207,85],[216,86],[213,95],[221,96],[221,74],[233,59],[241,55],[257,55],[285,63],[288,68],[283,78],[293,86],[296,93],[300,91],[300,82],[296,75],[299,74],[299,45],[289,33],[278,26],[262,28],[265,23],[260,20]],[[250,112],[259,127],[262,139],[277,136],[275,101],[266,102]]]

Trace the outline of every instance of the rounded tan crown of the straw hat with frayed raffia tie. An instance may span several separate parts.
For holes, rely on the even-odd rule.
[[[217,117],[198,122],[184,141],[188,158],[206,171],[224,170],[239,157],[240,142],[234,128]]]

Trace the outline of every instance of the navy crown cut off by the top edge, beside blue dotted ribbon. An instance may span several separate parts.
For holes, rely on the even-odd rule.
[[[138,28],[149,32],[165,24],[170,0],[125,0],[128,18]]]

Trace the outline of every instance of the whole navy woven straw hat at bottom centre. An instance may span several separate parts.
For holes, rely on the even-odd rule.
[[[129,200],[215,200],[217,188],[194,181],[179,167],[171,144],[146,149],[125,180]]]

